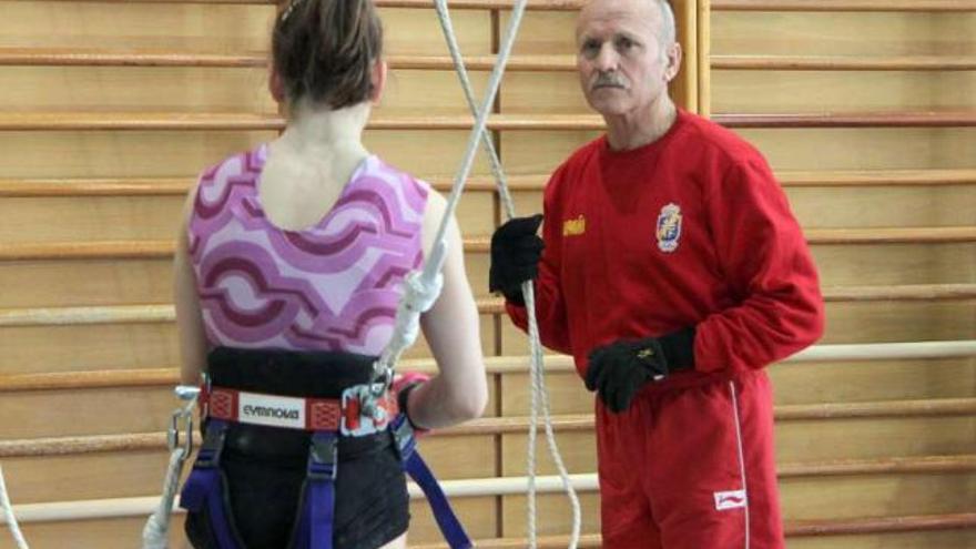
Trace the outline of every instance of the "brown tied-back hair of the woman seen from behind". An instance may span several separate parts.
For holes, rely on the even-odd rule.
[[[292,0],[272,34],[275,71],[292,103],[307,96],[342,109],[366,101],[382,53],[383,24],[372,0]]]

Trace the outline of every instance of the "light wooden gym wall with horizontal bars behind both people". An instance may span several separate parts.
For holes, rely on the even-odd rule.
[[[434,10],[378,3],[393,71],[367,144],[445,190],[469,118]],[[479,95],[510,3],[451,2]],[[531,1],[496,105],[523,214],[601,125],[572,72],[575,4]],[[687,0],[675,11],[675,94],[776,170],[821,268],[822,343],[976,339],[976,2]],[[203,166],[281,128],[265,91],[274,12],[261,0],[0,1],[0,462],[16,504],[67,509],[23,525],[32,547],[136,543],[176,404],[179,210]],[[491,403],[423,443],[446,480],[525,475],[526,338],[486,292],[499,218],[488,173],[479,157],[458,215]],[[430,368],[427,356],[418,344],[404,367]],[[563,457],[591,474],[591,396],[566,358],[549,364]],[[771,372],[791,548],[976,545],[972,353]],[[545,449],[539,459],[555,474]],[[481,547],[523,537],[525,497],[486,491],[456,499]],[[581,499],[594,547],[597,494]],[[563,496],[540,496],[552,547],[566,546],[568,510]],[[411,543],[439,542],[424,501],[414,517]]]

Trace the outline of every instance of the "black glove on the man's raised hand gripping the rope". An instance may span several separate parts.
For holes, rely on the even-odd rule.
[[[521,285],[539,276],[539,260],[545,244],[536,232],[542,224],[542,214],[512,217],[491,235],[491,267],[488,289],[501,292],[516,305],[525,305]]]

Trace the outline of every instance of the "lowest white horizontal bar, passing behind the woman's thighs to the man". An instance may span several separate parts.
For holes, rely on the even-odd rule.
[[[577,491],[596,491],[598,489],[596,474],[570,475],[570,482]],[[528,477],[501,477],[464,480],[445,480],[440,482],[448,497],[465,498],[477,496],[508,496],[528,491]],[[420,488],[410,482],[410,498],[420,499]],[[558,476],[536,477],[538,494],[562,491],[562,480]],[[179,508],[179,498],[173,512],[184,512]],[[50,504],[26,504],[13,506],[17,520],[24,522],[58,522],[69,520],[91,520],[110,518],[145,517],[155,511],[160,498],[153,496],[136,498],[88,499],[79,501],[54,501]],[[0,516],[0,525],[7,521]]]

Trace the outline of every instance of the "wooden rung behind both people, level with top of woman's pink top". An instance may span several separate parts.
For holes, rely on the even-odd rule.
[[[976,170],[846,170],[776,172],[785,187],[861,187],[861,186],[937,186],[974,185]],[[549,174],[507,176],[507,185],[516,192],[541,192]],[[59,197],[59,196],[170,196],[183,195],[195,183],[187,177],[99,177],[99,179],[0,179],[0,197]],[[434,177],[430,184],[440,192],[449,192],[453,181]],[[495,191],[494,179],[474,176],[465,190]]]

